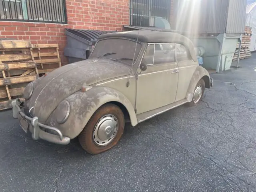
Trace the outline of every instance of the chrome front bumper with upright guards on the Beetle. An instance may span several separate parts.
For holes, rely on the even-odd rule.
[[[12,104],[11,104],[12,105],[12,116],[13,116],[13,118],[18,119],[18,115],[20,114],[20,116],[22,116],[24,119],[26,119],[28,121],[28,123],[33,128],[32,138],[34,140],[38,140],[40,138],[42,140],[46,140],[51,143],[62,144],[62,145],[67,145],[70,143],[70,138],[64,137],[62,135],[62,133],[60,132],[60,130],[58,130],[57,128],[47,126],[47,125],[44,125],[44,124],[38,122],[38,117],[31,118],[29,116],[26,116],[26,114],[24,114],[24,112],[22,112],[22,110],[20,108],[20,104],[21,104],[21,102],[19,99],[12,101]],[[40,127],[49,129],[49,130],[53,130],[58,135],[45,132],[45,131],[41,130]]]

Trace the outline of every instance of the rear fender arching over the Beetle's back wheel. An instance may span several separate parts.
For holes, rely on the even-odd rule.
[[[206,88],[210,88],[210,74],[208,73],[208,71],[205,68],[198,66],[198,67],[196,67],[196,70],[195,70],[195,72],[190,80],[190,84],[188,86],[188,91],[187,91],[187,96],[186,96],[186,99],[188,100],[188,102],[192,101],[194,89],[200,79],[204,80]]]

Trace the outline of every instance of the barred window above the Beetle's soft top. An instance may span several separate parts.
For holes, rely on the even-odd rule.
[[[130,25],[152,27],[156,17],[170,21],[171,0],[130,0]],[[142,17],[142,18],[141,18]]]

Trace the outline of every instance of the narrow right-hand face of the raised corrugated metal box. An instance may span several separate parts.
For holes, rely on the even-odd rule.
[[[226,33],[244,33],[246,0],[230,0]]]

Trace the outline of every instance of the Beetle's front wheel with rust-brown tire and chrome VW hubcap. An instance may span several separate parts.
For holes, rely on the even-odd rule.
[[[88,153],[99,154],[115,146],[123,132],[122,110],[114,104],[106,104],[93,114],[78,140]]]

